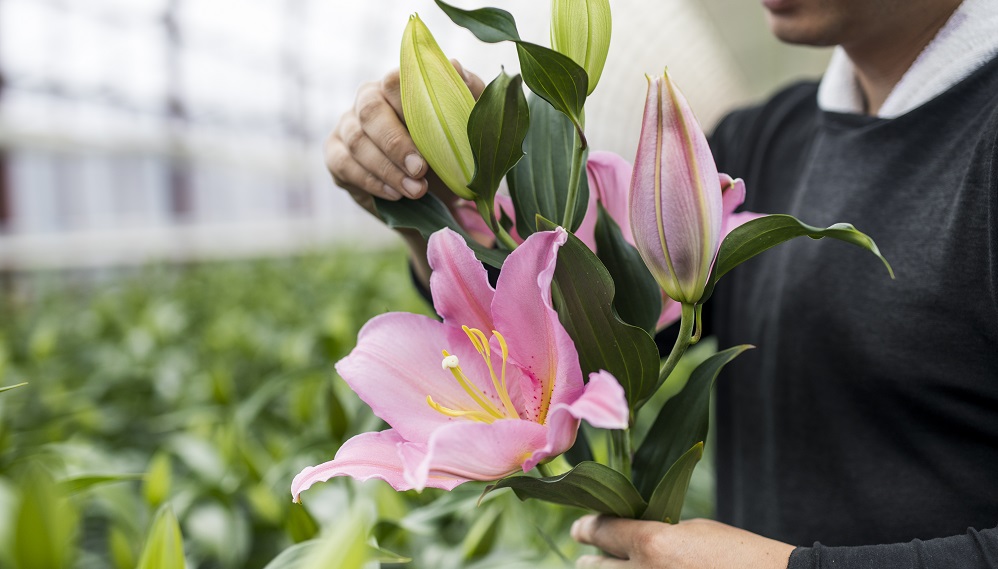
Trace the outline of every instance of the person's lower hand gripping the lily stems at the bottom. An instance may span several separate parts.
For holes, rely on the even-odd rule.
[[[710,520],[670,525],[585,516],[572,526],[572,538],[613,556],[585,555],[578,569],[786,569],[794,550]]]

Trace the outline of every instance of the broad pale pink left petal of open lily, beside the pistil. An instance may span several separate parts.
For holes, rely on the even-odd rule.
[[[452,409],[480,408],[451,372],[441,368],[442,350],[457,355],[478,390],[499,401],[485,363],[465,333],[418,314],[372,318],[357,336],[357,347],[336,363],[336,371],[403,438],[426,442],[450,421],[430,407],[427,395]]]

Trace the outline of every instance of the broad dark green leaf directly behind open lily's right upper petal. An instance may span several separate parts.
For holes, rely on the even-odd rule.
[[[554,229],[542,218],[538,229]],[[648,332],[620,320],[613,310],[613,279],[578,237],[569,234],[558,252],[552,293],[562,325],[575,342],[584,377],[613,374],[631,409],[651,396],[658,381],[658,347]]]

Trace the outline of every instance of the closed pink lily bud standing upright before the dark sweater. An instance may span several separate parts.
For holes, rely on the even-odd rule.
[[[648,76],[629,202],[645,265],[670,298],[696,304],[721,240],[721,185],[707,137],[668,71]]]

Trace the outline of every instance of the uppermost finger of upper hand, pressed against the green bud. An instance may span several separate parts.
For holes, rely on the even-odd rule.
[[[400,171],[417,180],[426,175],[426,160],[420,155],[405,124],[377,84],[369,84],[358,93],[354,110],[357,124],[364,134]],[[351,135],[358,134],[351,132]],[[385,181],[391,183],[387,179]]]

